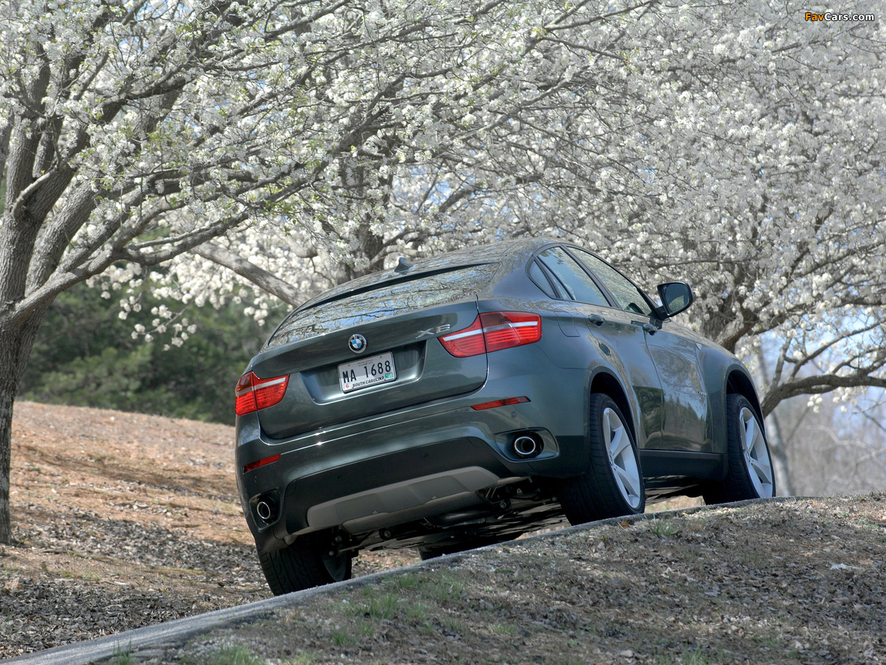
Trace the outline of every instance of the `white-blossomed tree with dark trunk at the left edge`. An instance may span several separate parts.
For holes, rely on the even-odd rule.
[[[607,15],[548,0],[0,7],[0,542],[11,537],[12,403],[58,293],[92,280],[125,296],[155,272],[159,290],[201,303],[230,288],[230,269],[298,302],[318,254],[340,281],[395,247],[461,237],[468,216],[480,231],[544,172],[523,130],[545,124],[595,68],[609,75],[546,30],[596,24],[595,40],[611,46],[622,17],[642,10],[630,0]],[[408,199],[425,207],[417,223]],[[139,313],[134,296],[123,301],[123,316]],[[169,324],[180,343],[188,331],[163,315],[152,330]]]

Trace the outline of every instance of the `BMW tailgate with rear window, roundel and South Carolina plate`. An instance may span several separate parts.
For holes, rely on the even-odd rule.
[[[430,285],[400,286],[404,293],[388,286],[321,304],[299,325],[284,321],[277,333],[289,341],[274,346],[272,338],[251,367],[261,378],[290,377],[283,400],[258,412],[262,430],[284,438],[482,387],[486,354],[456,358],[437,340],[478,316],[476,296],[463,297],[470,279],[458,281],[459,272],[447,273],[455,291],[435,276]],[[360,353],[350,343],[355,334],[365,340]]]

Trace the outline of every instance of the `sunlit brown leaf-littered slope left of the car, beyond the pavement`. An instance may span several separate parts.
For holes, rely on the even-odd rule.
[[[233,427],[19,402],[0,658],[268,598]],[[418,560],[362,555],[354,575]]]

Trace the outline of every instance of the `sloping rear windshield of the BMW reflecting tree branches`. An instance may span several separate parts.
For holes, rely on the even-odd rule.
[[[393,317],[414,309],[475,297],[486,289],[497,268],[497,263],[486,263],[446,272],[435,271],[424,277],[410,276],[394,283],[379,284],[377,289],[371,291],[296,310],[284,318],[265,348]]]

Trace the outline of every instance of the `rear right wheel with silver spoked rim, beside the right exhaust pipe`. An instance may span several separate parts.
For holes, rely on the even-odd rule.
[[[591,395],[591,469],[564,481],[560,505],[570,524],[584,524],[646,509],[637,444],[618,404],[603,394]],[[610,447],[615,454],[610,456]]]

